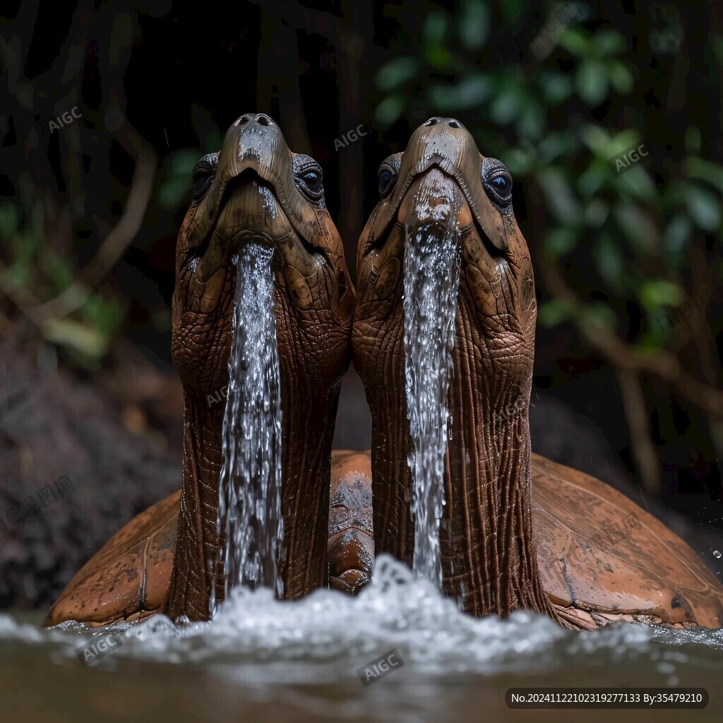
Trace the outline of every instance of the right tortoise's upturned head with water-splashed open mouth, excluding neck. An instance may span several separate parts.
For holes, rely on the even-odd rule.
[[[461,241],[460,294],[480,323],[532,355],[536,302],[526,241],[512,208],[512,178],[486,158],[462,124],[430,118],[403,153],[379,168],[380,202],[359,239],[359,306],[375,316],[401,303],[405,240],[412,232],[453,226]],[[380,305],[381,304],[381,305]]]

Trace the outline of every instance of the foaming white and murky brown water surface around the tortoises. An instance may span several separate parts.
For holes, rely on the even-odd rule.
[[[320,590],[278,602],[236,588],[210,623],[157,616],[121,626],[121,646],[90,667],[74,650],[92,634],[0,615],[0,715],[15,722],[505,720],[718,721],[723,631],[619,624],[561,630],[518,612],[476,620],[408,568],[380,557],[356,598]],[[102,636],[106,631],[97,631]],[[403,659],[364,687],[356,669],[397,649]],[[521,686],[689,686],[696,711],[513,711]]]

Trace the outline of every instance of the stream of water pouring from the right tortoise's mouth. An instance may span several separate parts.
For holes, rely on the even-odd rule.
[[[448,206],[406,236],[404,369],[412,451],[416,573],[442,587],[440,517],[444,505],[447,393],[461,262],[459,228]]]

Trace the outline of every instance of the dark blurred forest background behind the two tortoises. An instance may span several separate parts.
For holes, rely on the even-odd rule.
[[[458,117],[482,153],[508,163],[544,322],[534,450],[622,489],[719,573],[722,11],[589,3],[575,33],[612,30],[620,49],[607,56],[602,40],[576,48],[578,35],[557,43],[557,33],[547,56],[530,56],[557,7],[4,4],[0,606],[48,604],[122,523],[180,486],[176,234],[192,165],[247,111],[270,114],[292,150],[321,163],[353,277],[377,167],[422,121]],[[577,93],[552,93],[562,81]],[[81,117],[63,121],[73,108]],[[359,127],[364,135],[347,140]],[[646,236],[645,254],[633,239],[595,255],[619,229],[592,228],[591,213],[565,220],[549,195],[581,194],[576,180],[604,166],[604,151],[580,141],[589,127],[633,129],[651,150],[643,172],[655,197],[636,197],[636,181],[624,181],[641,169],[606,177],[592,194]],[[542,158],[556,139],[572,145],[529,168],[519,161],[531,149]],[[669,252],[679,218],[688,231]],[[565,234],[573,240],[560,250]],[[627,281],[615,288],[617,278]],[[367,447],[368,419],[352,373],[335,445]],[[64,475],[73,489],[49,517],[38,491]],[[17,522],[12,509],[25,510]]]

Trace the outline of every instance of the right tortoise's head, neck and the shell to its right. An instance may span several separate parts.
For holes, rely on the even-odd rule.
[[[421,372],[406,369],[406,338],[424,336],[451,367],[445,505],[433,515],[446,594],[473,615],[526,608],[570,628],[641,616],[720,627],[723,587],[688,545],[602,482],[531,453],[536,296],[508,169],[482,155],[460,121],[435,116],[378,176],[380,200],[359,238],[352,330],[372,412],[376,553],[414,560],[408,460],[419,426],[407,385]],[[423,326],[429,305],[409,307],[407,319],[404,304],[419,278],[435,281],[429,302],[457,275],[449,317],[435,319],[452,346]]]

